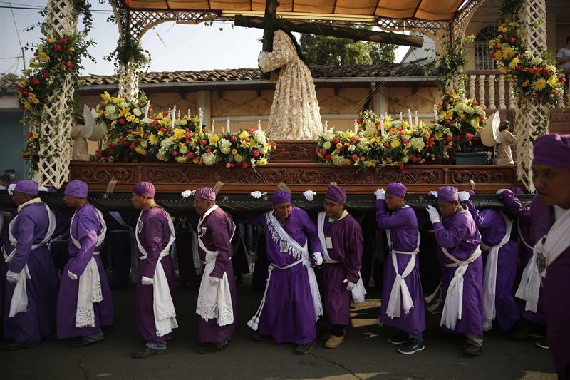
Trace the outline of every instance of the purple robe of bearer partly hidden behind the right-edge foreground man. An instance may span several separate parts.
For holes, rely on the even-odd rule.
[[[522,205],[521,201],[514,196],[513,192],[505,191],[501,193],[503,202],[509,213],[517,218],[517,233],[520,238],[521,253],[521,270],[527,267],[529,260],[532,258],[532,247],[536,241],[532,233],[532,218],[529,206]],[[518,284],[517,284],[518,286]],[[516,290],[516,289],[515,289]],[[539,291],[539,300],[537,303],[537,312],[531,312],[524,309],[524,300],[517,299],[522,317],[527,321],[536,324],[546,324],[546,307],[544,305],[544,294],[542,287]]]

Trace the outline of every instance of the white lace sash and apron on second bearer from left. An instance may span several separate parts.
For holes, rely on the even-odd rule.
[[[103,213],[95,208],[99,217],[99,225],[101,232],[97,237],[95,247],[99,247],[105,240],[105,233],[107,232],[107,225],[103,219]],[[81,242],[73,236],[73,220],[77,215],[77,211],[71,217],[71,226],[69,229],[69,237],[73,245],[81,250]],[[77,231],[76,231],[77,232]],[[77,292],[77,307],[76,307],[76,327],[95,327],[95,309],[93,304],[95,302],[103,301],[103,293],[101,292],[101,279],[99,277],[99,270],[95,255],[99,255],[98,251],[93,252],[91,260],[89,260],[87,267],[79,276],[79,287]]]

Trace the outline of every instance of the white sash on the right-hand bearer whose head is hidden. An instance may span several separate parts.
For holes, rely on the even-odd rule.
[[[504,223],[507,226],[507,231],[504,233],[504,237],[499,242],[499,244],[493,247],[488,247],[481,243],[481,247],[484,250],[489,251],[487,256],[487,262],[485,263],[485,269],[483,273],[483,287],[484,287],[484,319],[483,319],[483,331],[489,331],[492,328],[492,321],[497,314],[495,308],[495,290],[497,288],[497,262],[499,261],[499,250],[511,238],[512,222],[501,212],[501,216],[504,219]]]

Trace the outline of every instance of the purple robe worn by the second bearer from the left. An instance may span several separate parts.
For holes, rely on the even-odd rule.
[[[103,262],[100,255],[94,255],[94,252],[100,251],[97,245],[97,237],[101,232],[99,214],[93,205],[88,203],[81,207],[73,217],[70,227],[71,236],[75,237],[81,245],[81,249],[73,244],[71,237],[69,238],[69,260],[63,267],[61,275],[61,285],[59,287],[58,297],[58,338],[66,339],[71,337],[86,337],[90,334],[98,332],[101,326],[110,326],[113,324],[115,315],[113,309],[113,297]],[[68,271],[81,276],[87,265],[91,261],[91,257],[95,257],[97,269],[101,282],[101,295],[103,300],[93,304],[93,312],[95,313],[95,326],[76,327],[76,309],[77,295],[79,291],[79,279],[71,279]]]

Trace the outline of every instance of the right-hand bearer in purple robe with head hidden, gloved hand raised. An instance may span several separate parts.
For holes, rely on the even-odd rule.
[[[483,330],[492,329],[492,321],[496,317],[501,329],[508,331],[521,317],[513,295],[519,244],[511,238],[512,222],[507,215],[499,210],[477,210],[469,199],[472,193],[475,194],[472,191],[462,191],[458,196],[475,220],[486,255],[483,274]]]

